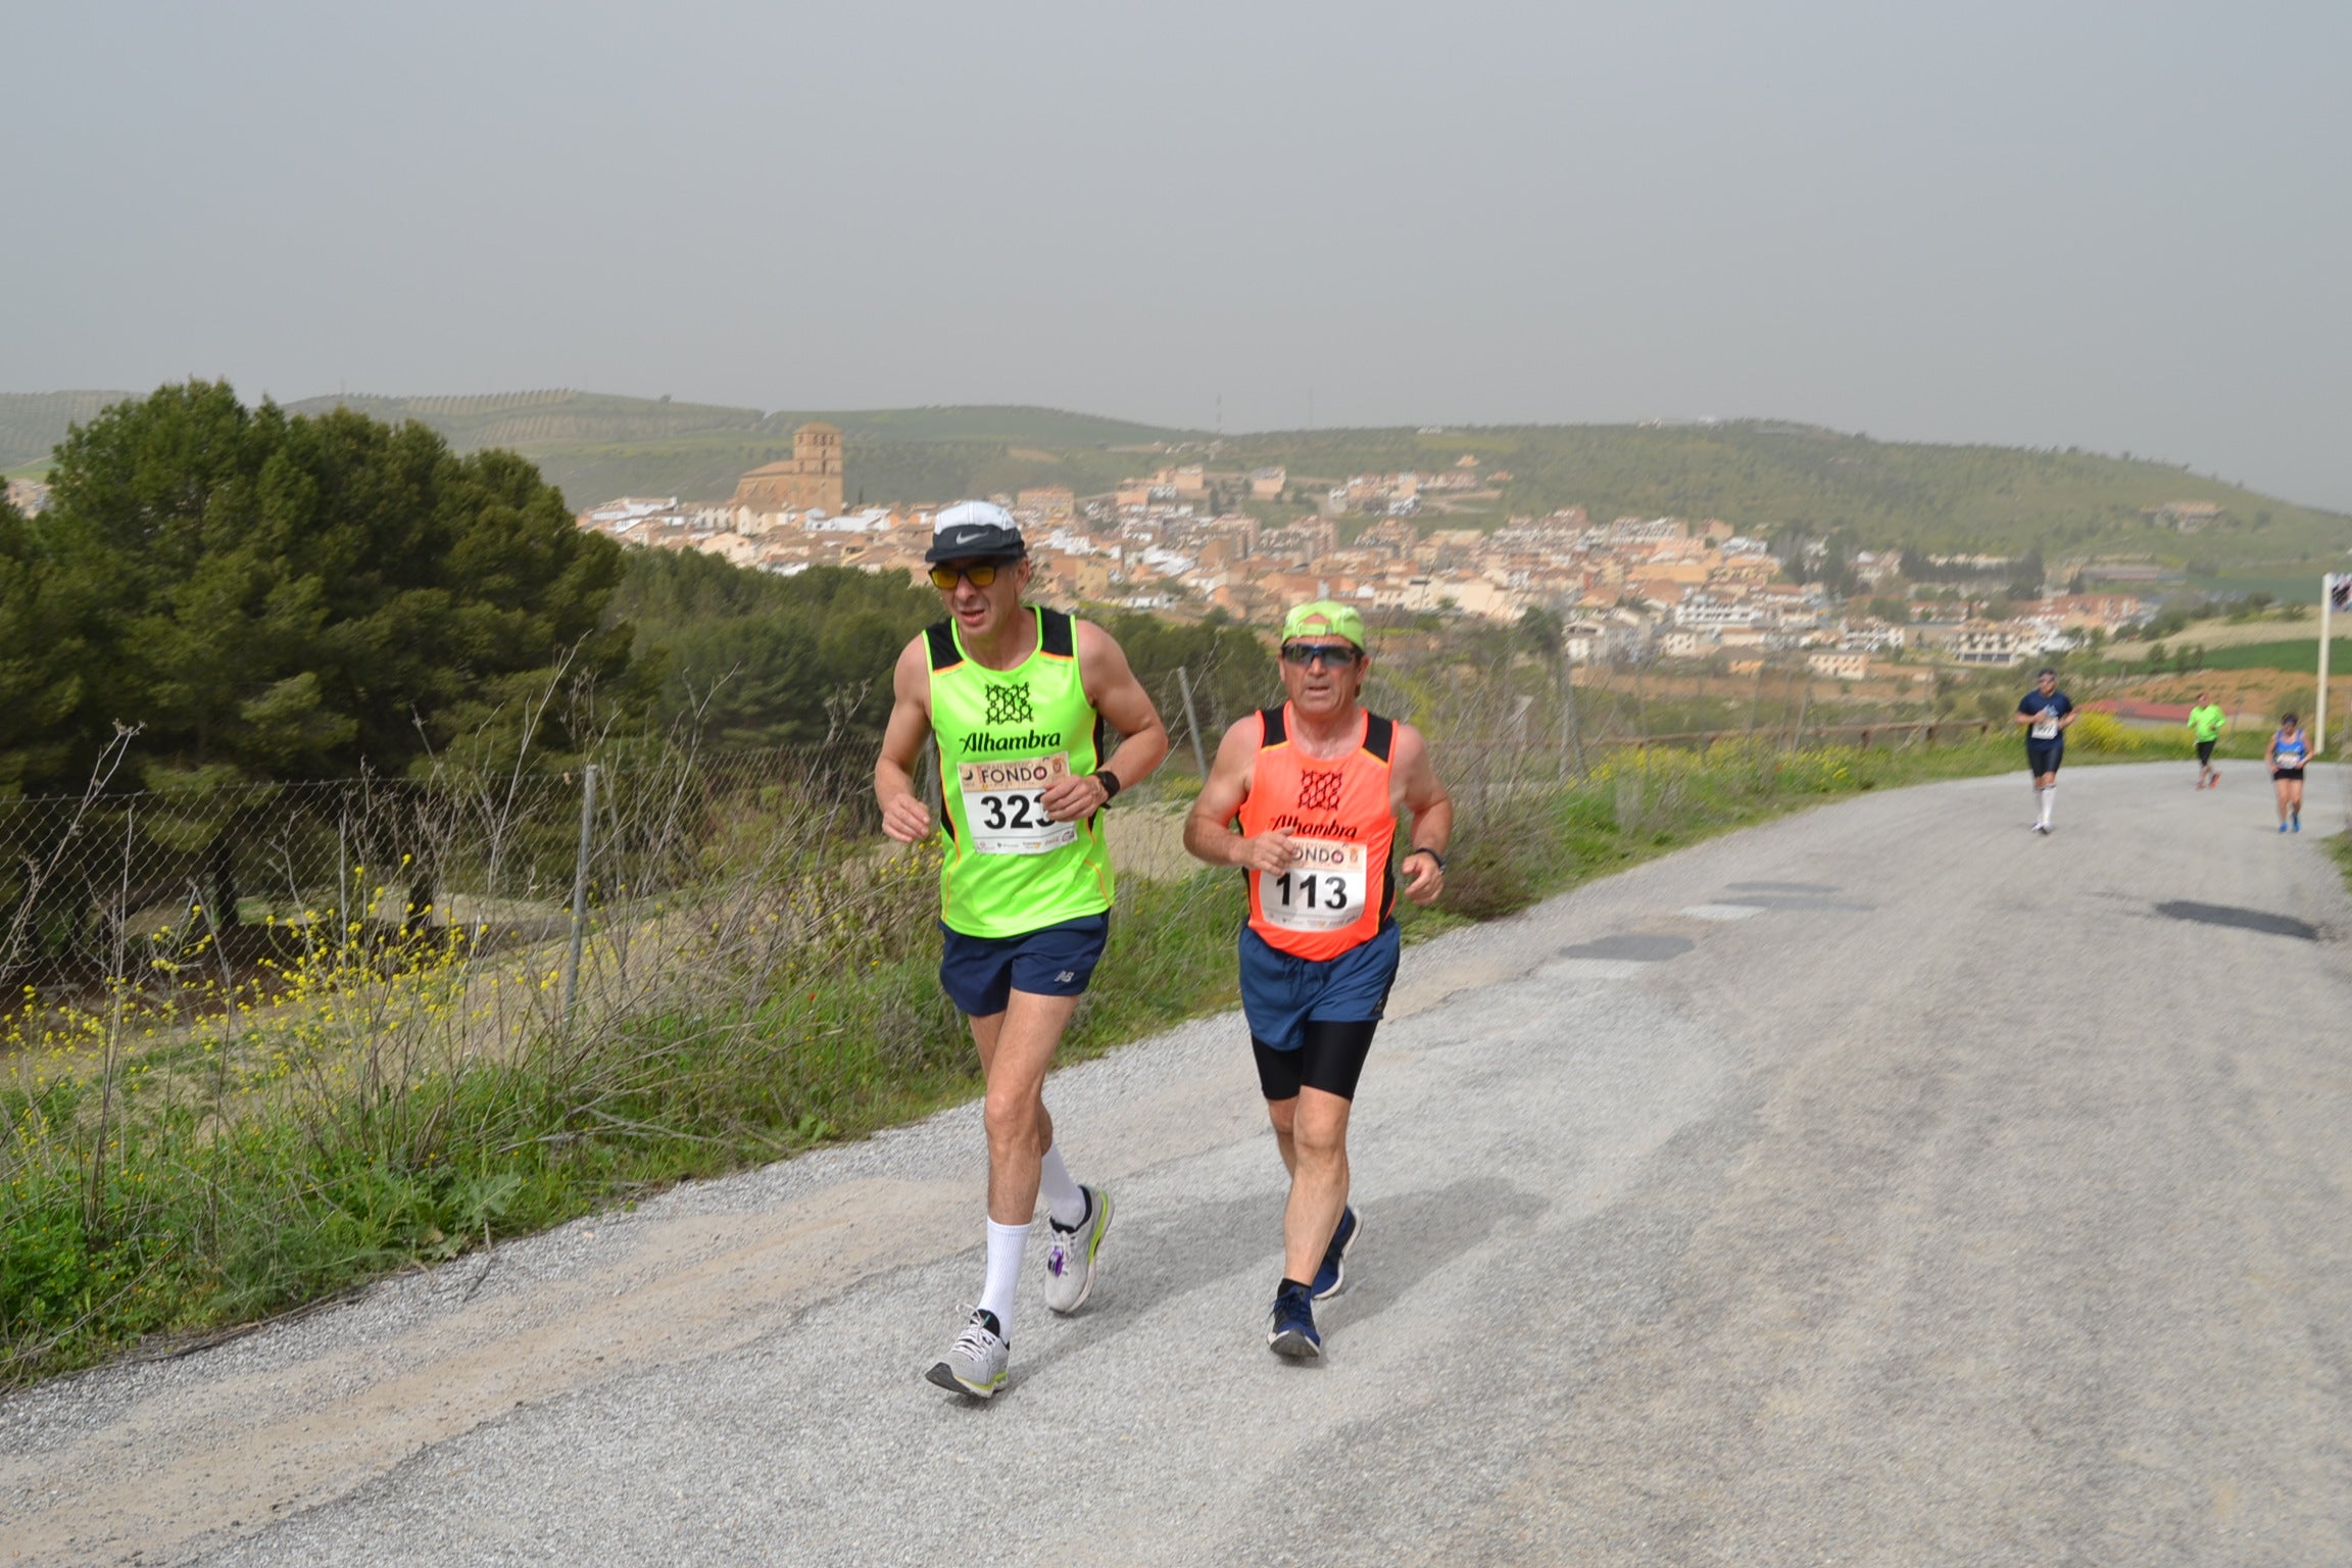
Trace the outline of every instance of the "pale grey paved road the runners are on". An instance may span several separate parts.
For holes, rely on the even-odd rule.
[[[1863,797],[1409,952],[1322,1368],[1225,1018],[1054,1079],[1120,1222],[993,1406],[920,1380],[962,1110],[7,1401],[0,1561],[2347,1563],[2352,903],[2246,766],[2027,816]]]

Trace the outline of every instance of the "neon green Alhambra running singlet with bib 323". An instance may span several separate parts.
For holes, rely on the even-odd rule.
[[[1037,651],[1011,670],[964,654],[955,621],[924,630],[931,656],[931,741],[948,818],[938,910],[962,936],[1025,936],[1110,910],[1101,813],[1044,816],[1044,788],[1103,766],[1108,726],[1087,703],[1077,623],[1037,616]]]

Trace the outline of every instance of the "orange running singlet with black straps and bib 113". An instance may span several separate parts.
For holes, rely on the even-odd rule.
[[[1289,741],[1289,705],[1258,710],[1258,759],[1237,820],[1242,832],[1284,830],[1301,858],[1287,872],[1242,872],[1249,929],[1277,952],[1336,959],[1388,924],[1395,877],[1388,851],[1397,816],[1388,799],[1392,719],[1364,712],[1364,736],[1345,762],[1305,757]]]

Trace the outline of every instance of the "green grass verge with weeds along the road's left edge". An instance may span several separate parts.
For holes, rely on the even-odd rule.
[[[1468,813],[1449,907],[1402,917],[1418,940],[1797,806],[1997,771],[2013,752],[1613,755],[1573,788]],[[238,1044],[158,1041],[111,1088],[87,1060],[19,1060],[0,1088],[0,1385],[971,1098],[969,1039],[934,976],[934,886],[908,867],[755,987],[713,985],[503,1058],[400,1044],[402,1018],[433,1013],[428,971],[412,992],[376,992],[393,1044],[369,1039],[353,1058],[365,1072],[268,1018]],[[1061,1060],[1230,1006],[1237,917],[1228,872],[1127,879],[1105,983]]]

